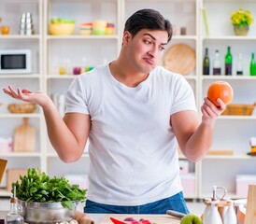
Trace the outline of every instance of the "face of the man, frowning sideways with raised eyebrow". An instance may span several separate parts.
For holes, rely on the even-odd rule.
[[[123,40],[130,64],[135,66],[137,72],[148,74],[162,58],[168,34],[166,31],[143,29],[134,37],[129,32],[125,32]]]

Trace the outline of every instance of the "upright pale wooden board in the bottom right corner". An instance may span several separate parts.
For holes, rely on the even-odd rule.
[[[249,185],[245,223],[256,223],[256,185]]]

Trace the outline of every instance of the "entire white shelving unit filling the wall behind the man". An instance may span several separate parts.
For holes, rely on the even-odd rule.
[[[256,25],[250,26],[248,36],[235,36],[230,22],[231,12],[239,7],[249,8],[256,19],[256,3],[254,0],[0,0],[0,15],[10,22],[10,35],[0,35],[0,49],[29,48],[34,52],[34,68],[31,75],[0,76],[0,88],[8,84],[14,87],[29,88],[32,91],[46,91],[50,96],[65,94],[73,80],[72,68],[75,66],[95,66],[104,61],[115,59],[121,49],[121,34],[124,22],[137,9],[151,7],[159,10],[176,26],[176,35],[167,48],[183,43],[196,53],[196,66],[192,74],[184,76],[192,86],[198,113],[206,96],[208,86],[216,80],[228,81],[234,88],[234,104],[253,104],[256,102],[256,78],[249,77],[249,61],[251,52],[256,52]],[[210,35],[206,35],[202,8],[207,11]],[[12,13],[7,9],[12,8]],[[35,17],[36,35],[18,35],[19,15],[31,11]],[[218,16],[217,16],[218,15]],[[76,20],[74,35],[49,35],[50,19],[69,18]],[[94,20],[109,20],[116,24],[114,35],[80,35],[79,24]],[[18,21],[14,23],[13,21]],[[180,35],[180,27],[186,27],[186,35]],[[231,46],[234,56],[233,72],[238,53],[243,54],[244,76],[204,76],[202,61],[205,48],[209,49],[209,57],[213,59],[215,49],[220,50],[220,59],[224,59],[227,46]],[[58,68],[65,63],[68,75],[58,74]],[[222,71],[223,71],[222,64]],[[0,136],[11,136],[14,129],[21,124],[23,117],[30,118],[30,124],[36,128],[35,153],[2,154],[7,158],[10,168],[28,168],[39,166],[49,175],[85,175],[89,171],[90,160],[85,152],[82,158],[74,163],[65,164],[60,161],[50,146],[46,133],[45,120],[41,109],[28,115],[13,115],[7,111],[7,104],[13,102],[3,95],[0,107]],[[211,195],[212,185],[226,187],[229,196],[235,195],[235,175],[255,174],[255,158],[249,157],[249,138],[255,133],[255,116],[222,116],[217,120],[214,143],[211,150],[232,149],[233,156],[206,156],[197,163],[190,162],[190,172],[196,176],[195,192],[185,195],[187,198],[205,198]],[[180,160],[186,159],[180,156]],[[58,167],[58,169],[56,169]],[[255,174],[256,175],[256,174]],[[2,186],[5,186],[5,181]],[[0,196],[9,192],[0,190]]]

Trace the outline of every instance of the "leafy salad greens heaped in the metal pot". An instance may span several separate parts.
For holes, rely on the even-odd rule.
[[[72,209],[74,201],[84,201],[86,189],[72,186],[64,177],[50,178],[39,168],[29,168],[27,175],[20,175],[21,183],[12,183],[12,192],[16,187],[16,197],[27,203],[57,203]]]

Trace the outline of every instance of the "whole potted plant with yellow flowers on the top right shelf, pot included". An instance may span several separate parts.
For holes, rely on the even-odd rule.
[[[250,10],[239,8],[231,15],[231,21],[234,25],[235,35],[247,35],[249,32],[249,25],[254,22]]]

